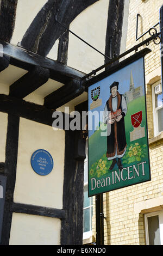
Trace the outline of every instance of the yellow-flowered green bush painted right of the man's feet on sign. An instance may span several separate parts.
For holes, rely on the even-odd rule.
[[[137,142],[135,144],[130,144],[126,150],[126,154],[123,156],[123,164],[129,164],[135,161],[140,162],[147,155],[146,147],[146,144],[141,147]]]

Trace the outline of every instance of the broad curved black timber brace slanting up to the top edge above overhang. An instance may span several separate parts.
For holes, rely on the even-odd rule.
[[[97,1],[99,0],[48,0],[24,34],[21,46],[46,56],[65,31],[55,19],[69,27],[83,10]]]

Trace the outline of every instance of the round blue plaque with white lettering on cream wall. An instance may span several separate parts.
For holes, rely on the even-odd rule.
[[[53,158],[44,149],[36,150],[30,159],[33,170],[42,176],[48,175],[53,169]]]

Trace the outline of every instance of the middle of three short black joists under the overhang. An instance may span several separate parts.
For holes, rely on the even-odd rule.
[[[23,99],[28,94],[34,92],[37,88],[48,81],[49,70],[41,68],[41,66],[34,66],[27,74],[18,79],[10,86],[11,96]]]

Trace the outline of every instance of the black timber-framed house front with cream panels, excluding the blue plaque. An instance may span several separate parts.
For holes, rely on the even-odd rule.
[[[81,245],[86,137],[53,130],[52,114],[65,104],[87,110],[85,103],[80,105],[87,100],[81,78],[106,59],[76,41],[55,19],[74,32],[82,28],[80,36],[105,54],[111,50],[109,28],[118,22],[114,56],[120,53],[124,1],[29,2],[1,1],[0,173],[7,177],[1,244]],[[118,8],[112,20],[111,7]],[[43,86],[47,91],[39,94],[45,92]],[[54,160],[46,177],[30,166],[32,153],[40,148]]]

